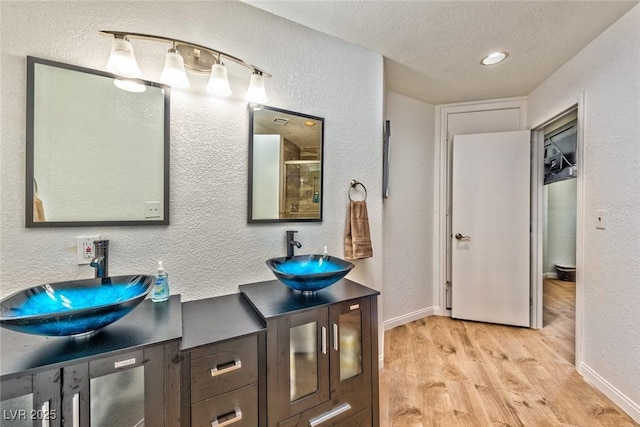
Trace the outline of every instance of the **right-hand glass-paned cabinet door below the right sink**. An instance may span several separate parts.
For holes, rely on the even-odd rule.
[[[329,307],[331,398],[371,382],[370,303],[363,298]]]

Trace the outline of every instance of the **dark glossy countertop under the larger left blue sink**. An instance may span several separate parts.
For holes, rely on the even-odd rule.
[[[180,295],[144,300],[122,319],[83,337],[45,337],[2,329],[0,377],[32,373],[182,337]]]

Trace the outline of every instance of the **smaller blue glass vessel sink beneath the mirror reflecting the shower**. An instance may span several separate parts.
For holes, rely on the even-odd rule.
[[[296,255],[271,258],[267,265],[282,283],[302,292],[333,285],[354,267],[349,261],[328,255]]]

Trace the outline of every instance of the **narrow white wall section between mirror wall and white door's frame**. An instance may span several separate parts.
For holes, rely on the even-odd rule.
[[[391,328],[433,314],[435,107],[394,92],[386,93],[385,103],[391,138],[384,313]]]

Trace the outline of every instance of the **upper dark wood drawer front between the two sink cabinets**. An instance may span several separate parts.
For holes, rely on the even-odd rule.
[[[191,402],[258,381],[258,337],[251,335],[191,352]]]

